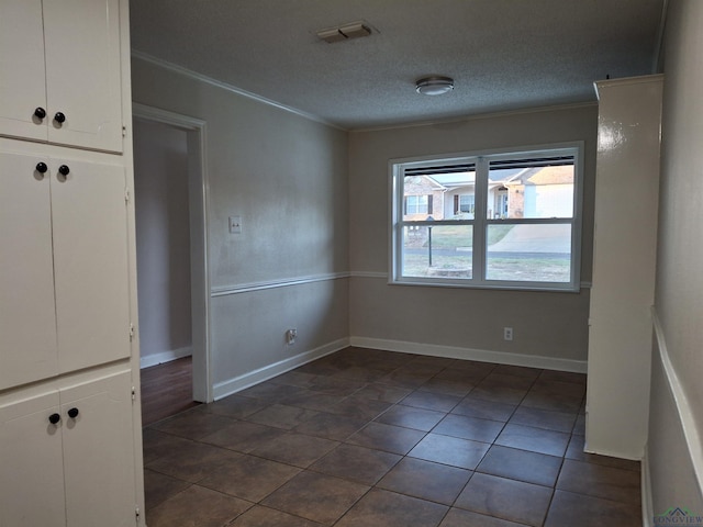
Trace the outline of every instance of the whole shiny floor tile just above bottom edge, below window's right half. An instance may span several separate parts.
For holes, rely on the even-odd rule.
[[[551,500],[546,486],[475,473],[455,502],[456,507],[538,527]],[[570,526],[566,523],[562,527]]]

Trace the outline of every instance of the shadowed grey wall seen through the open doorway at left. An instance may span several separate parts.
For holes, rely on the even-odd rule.
[[[186,132],[134,122],[142,367],[192,352]]]

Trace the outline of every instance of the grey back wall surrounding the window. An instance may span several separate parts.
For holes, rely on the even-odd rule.
[[[444,289],[388,283],[389,160],[584,142],[581,280],[591,278],[598,106],[581,105],[349,134],[353,343],[456,357],[515,354],[523,363],[584,368],[589,290],[579,293]],[[512,326],[514,340],[503,340]],[[414,348],[414,345],[424,345]],[[486,357],[486,354],[482,355]],[[505,357],[505,356],[504,356]],[[537,358],[556,359],[539,361]],[[525,359],[525,360],[522,360]],[[515,361],[513,360],[513,361]]]

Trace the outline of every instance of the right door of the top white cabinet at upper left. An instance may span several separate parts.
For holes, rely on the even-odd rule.
[[[49,143],[121,152],[120,1],[45,1],[44,40]]]

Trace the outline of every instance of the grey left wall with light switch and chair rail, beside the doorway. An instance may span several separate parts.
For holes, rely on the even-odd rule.
[[[215,397],[343,347],[347,133],[142,58],[132,79],[135,102],[207,123]],[[228,232],[233,215],[241,234]],[[291,325],[298,339],[288,346]]]

